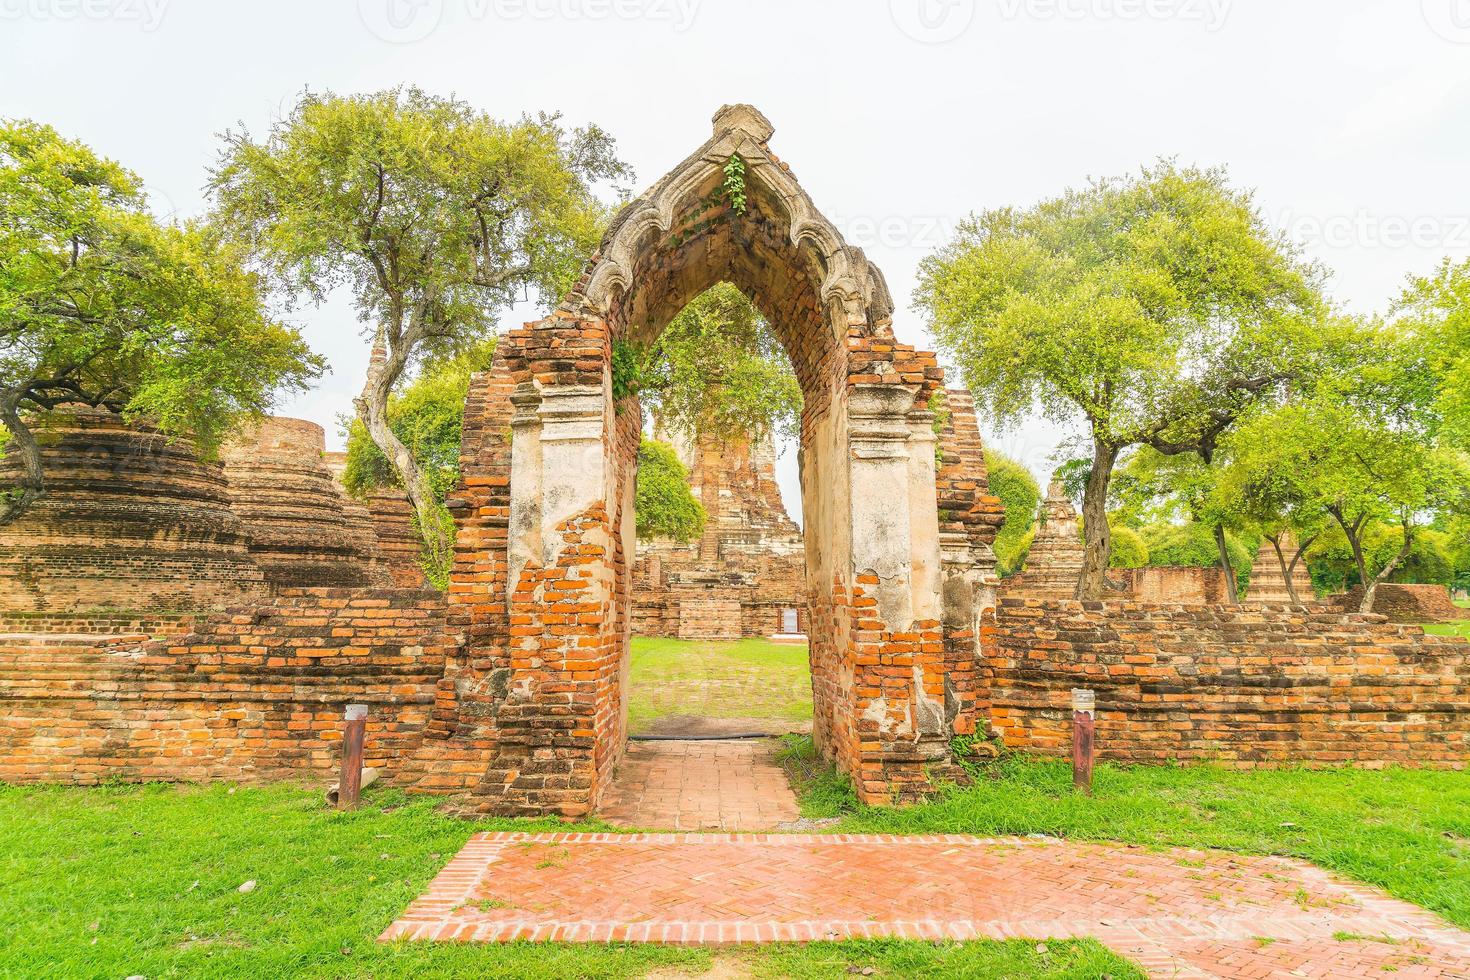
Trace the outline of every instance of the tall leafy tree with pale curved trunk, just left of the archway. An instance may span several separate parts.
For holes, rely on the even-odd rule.
[[[375,357],[357,416],[398,473],[431,560],[451,541],[434,478],[394,432],[404,372],[488,336],[523,291],[554,301],[606,223],[598,181],[626,175],[595,126],[504,123],[417,88],[306,94],[263,140],[225,134],[210,190],[220,225],[287,297],[351,291]]]

